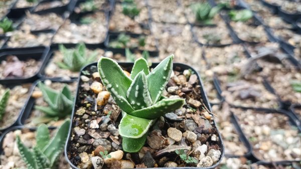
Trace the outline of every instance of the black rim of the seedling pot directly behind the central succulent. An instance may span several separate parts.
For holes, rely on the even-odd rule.
[[[119,33],[120,34],[120,33]],[[144,34],[133,34],[133,33],[126,33],[126,35],[129,35],[130,37],[132,37],[132,38],[137,38],[137,37],[139,37],[140,35],[144,35]],[[117,38],[117,36],[118,36],[118,34],[115,34],[115,33],[109,33],[108,34],[108,36],[107,36],[107,38],[106,38],[106,40],[105,40],[105,42],[104,42],[104,45],[106,46],[106,48],[107,48],[107,50],[110,50],[110,51],[115,51],[115,52],[118,52],[118,53],[125,53],[125,48],[113,48],[113,47],[110,47],[109,46],[109,42],[110,42],[110,40],[112,40],[112,39],[116,39]],[[144,36],[146,36],[147,37],[147,35],[144,35]],[[156,40],[156,50],[149,50],[148,52],[149,52],[149,55],[152,55],[152,56],[159,56],[159,49],[158,49],[158,42],[157,42],[157,40]],[[140,50],[140,49],[138,49],[137,47],[133,47],[133,48],[130,48],[132,51],[134,51],[134,50],[138,50],[139,52],[143,52],[143,50]]]

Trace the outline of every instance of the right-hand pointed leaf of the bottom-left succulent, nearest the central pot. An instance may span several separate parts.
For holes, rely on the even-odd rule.
[[[60,126],[55,136],[49,141],[49,143],[43,149],[43,153],[47,156],[50,161],[50,165],[56,162],[60,153],[64,149],[64,145],[68,136],[68,130],[70,126],[70,119],[66,119]]]

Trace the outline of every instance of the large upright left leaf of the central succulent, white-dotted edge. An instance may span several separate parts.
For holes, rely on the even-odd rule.
[[[126,99],[126,91],[132,80],[124,73],[116,61],[108,57],[101,57],[98,61],[98,72],[102,83],[111,93],[117,105],[125,112],[134,109]]]

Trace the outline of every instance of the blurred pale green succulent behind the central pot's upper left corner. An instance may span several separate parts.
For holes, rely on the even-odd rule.
[[[64,45],[59,45],[60,52],[64,55],[63,62],[57,64],[61,68],[71,71],[79,71],[84,65],[91,63],[97,56],[97,51],[87,55],[86,46],[84,43],[78,44],[75,48],[67,49]]]

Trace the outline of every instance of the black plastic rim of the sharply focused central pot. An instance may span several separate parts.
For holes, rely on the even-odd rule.
[[[119,64],[120,66],[122,66],[122,67],[131,67],[131,66],[133,66],[133,62],[119,62],[118,64]],[[151,67],[155,67],[155,66],[157,66],[158,64],[159,64],[159,63],[153,63]],[[97,62],[91,63],[91,64],[89,64],[89,65],[83,67],[82,70],[81,70],[81,74],[80,74],[80,75],[83,75],[82,71],[88,69],[88,68],[89,68],[90,66],[92,66],[92,65],[97,66]],[[202,98],[203,98],[203,103],[204,103],[205,106],[211,111],[211,106],[210,106],[210,103],[208,102],[207,95],[206,95],[206,93],[205,93],[205,91],[204,91],[204,87],[203,87],[204,85],[203,85],[202,79],[200,78],[200,75],[197,73],[197,71],[194,70],[194,68],[192,68],[191,66],[189,66],[189,65],[187,65],[187,64],[183,64],[183,63],[174,63],[174,69],[175,69],[176,67],[177,67],[177,68],[180,68],[181,70],[184,70],[184,69],[191,69],[192,71],[196,72],[196,74],[197,74],[197,76],[198,76],[198,80],[200,80],[200,85],[201,85],[201,88],[202,88],[202,89],[201,89],[201,95],[202,95]],[[75,95],[75,101],[74,101],[74,106],[73,106],[73,111],[72,111],[71,119],[74,118],[74,112],[75,112],[76,104],[78,104],[78,101],[80,101],[80,100],[79,100],[79,86],[80,86],[81,84],[82,84],[82,81],[80,80],[80,78],[78,78],[77,93],[76,93],[76,95]],[[215,125],[215,121],[214,121],[214,125]],[[66,144],[65,144],[65,157],[66,157],[67,161],[69,162],[71,168],[78,168],[77,166],[75,166],[75,165],[69,160],[69,158],[68,158],[68,153],[67,153],[67,152],[68,152],[68,149],[69,149],[69,146],[70,146],[70,140],[71,140],[71,136],[72,136],[71,133],[72,133],[72,128],[73,128],[73,127],[74,127],[74,123],[72,122],[72,124],[70,125],[70,128],[69,128],[68,139],[67,139]],[[220,146],[221,146],[221,152],[222,152],[222,154],[221,154],[220,160],[219,160],[216,164],[214,164],[213,166],[210,166],[210,167],[208,167],[208,168],[215,168],[216,166],[218,166],[219,163],[220,163],[220,161],[222,160],[222,158],[223,158],[223,156],[224,156],[224,145],[223,145],[223,141],[222,141],[222,139],[221,139],[221,135],[220,135],[220,133],[219,133],[218,130],[217,130],[217,132],[218,132],[219,140],[221,141],[221,142],[220,142],[220,144],[221,144]],[[166,167],[162,167],[162,168],[166,168]],[[197,167],[177,167],[177,168],[197,168]]]

